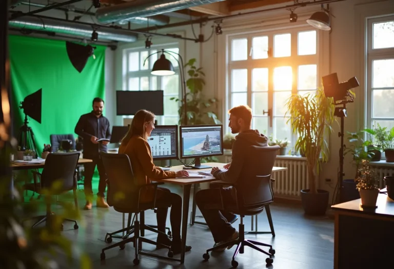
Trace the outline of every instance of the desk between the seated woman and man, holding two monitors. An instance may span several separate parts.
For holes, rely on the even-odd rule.
[[[204,163],[206,165],[209,165],[211,167],[219,167],[223,168],[223,166],[226,163],[219,163],[219,162],[207,162]],[[180,171],[183,169],[183,165],[177,165],[174,167],[171,167],[171,171]],[[210,171],[211,169],[190,169],[188,171],[196,173],[200,171]],[[274,167],[272,169],[272,172],[277,172],[277,171],[284,171],[287,170],[285,167]],[[181,252],[181,263],[185,262],[185,246],[186,246],[186,234],[187,234],[187,219],[189,216],[189,202],[190,202],[190,189],[192,184],[197,184],[197,183],[205,183],[205,182],[211,182],[215,181],[213,176],[206,176],[204,178],[167,178],[167,179],[156,179],[154,181],[157,182],[164,182],[164,183],[172,183],[172,184],[177,184],[177,185],[182,185],[183,186],[183,206],[182,206],[182,252]],[[194,185],[194,190],[196,189],[196,186]]]

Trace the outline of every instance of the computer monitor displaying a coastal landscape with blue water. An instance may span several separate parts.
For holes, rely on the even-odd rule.
[[[181,126],[181,158],[195,158],[192,168],[210,168],[201,165],[200,158],[223,155],[223,125]]]

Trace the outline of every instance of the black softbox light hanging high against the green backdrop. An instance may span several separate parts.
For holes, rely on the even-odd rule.
[[[66,49],[71,64],[78,72],[82,72],[90,56],[93,55],[95,47],[84,46],[66,41]]]

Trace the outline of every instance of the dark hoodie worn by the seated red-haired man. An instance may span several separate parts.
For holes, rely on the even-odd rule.
[[[235,141],[232,144],[230,168],[226,172],[218,170],[213,176],[225,182],[236,183],[241,175],[249,146],[267,147],[268,138],[260,134],[258,130],[247,130],[235,136]]]

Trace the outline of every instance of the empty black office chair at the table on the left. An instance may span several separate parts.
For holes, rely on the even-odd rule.
[[[43,190],[51,189],[54,182],[61,180],[61,188],[53,190],[52,195],[60,195],[62,193],[73,191],[75,208],[78,209],[78,199],[76,196],[76,175],[75,167],[80,158],[79,152],[68,152],[68,153],[50,153],[48,154],[42,173],[37,171],[31,171],[33,173],[34,183],[27,183],[24,188],[30,191],[34,191],[43,194]],[[37,176],[40,181],[37,181]],[[37,226],[40,223],[46,222],[47,225],[51,222],[50,217],[52,216],[51,204],[47,203],[46,215],[37,216],[38,221],[33,224],[32,227]],[[74,229],[78,229],[76,220],[64,219],[66,221],[74,222]],[[49,222],[49,223],[48,223]],[[63,224],[61,227],[63,230]]]

